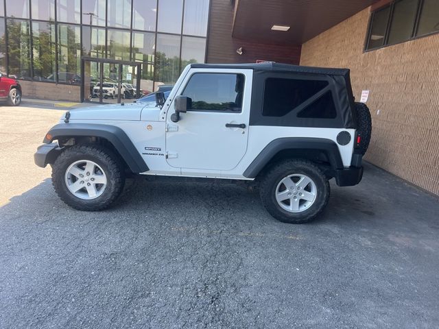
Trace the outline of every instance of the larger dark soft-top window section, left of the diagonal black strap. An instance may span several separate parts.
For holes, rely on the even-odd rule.
[[[269,77],[265,80],[263,117],[283,117],[328,86],[322,80],[296,80]]]

